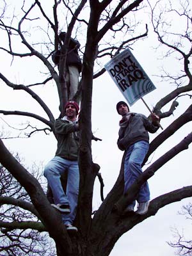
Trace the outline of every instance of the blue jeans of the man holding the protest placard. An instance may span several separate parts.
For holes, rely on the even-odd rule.
[[[143,160],[148,152],[148,142],[147,141],[138,141],[134,144],[132,144],[129,148],[126,150],[125,155],[125,163],[124,163],[124,193],[127,191],[127,189],[134,183],[136,179],[141,175],[142,169],[141,164],[143,163]],[[141,202],[146,202],[150,200],[150,191],[148,188],[148,182],[145,182],[141,188],[140,192],[138,194],[138,198],[136,200]],[[133,207],[135,205],[135,201],[131,204]]]

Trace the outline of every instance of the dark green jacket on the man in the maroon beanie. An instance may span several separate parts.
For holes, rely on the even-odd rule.
[[[77,161],[79,151],[79,132],[77,122],[57,119],[55,131],[58,140],[56,156],[63,157],[71,161]]]

